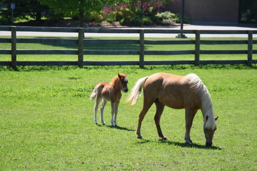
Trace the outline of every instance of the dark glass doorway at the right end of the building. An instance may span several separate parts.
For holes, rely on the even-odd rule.
[[[257,0],[239,0],[238,22],[257,24]]]

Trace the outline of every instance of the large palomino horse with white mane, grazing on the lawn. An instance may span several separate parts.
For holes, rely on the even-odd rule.
[[[155,103],[155,124],[159,137],[166,140],[160,127],[160,118],[164,106],[175,109],[185,108],[186,113],[186,144],[192,143],[190,139],[190,129],[193,118],[198,109],[201,109],[204,118],[204,133],[206,146],[212,145],[212,138],[216,130],[217,117],[213,116],[210,93],[200,78],[195,74],[187,76],[178,76],[167,73],[156,73],[138,80],[131,90],[126,102],[133,99],[130,106],[134,106],[140,97],[141,88],[144,90],[143,107],[139,115],[137,128],[138,138],[140,134],[141,123],[148,109]]]

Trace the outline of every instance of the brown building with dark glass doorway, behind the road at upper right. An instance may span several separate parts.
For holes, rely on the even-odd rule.
[[[192,23],[257,24],[257,0],[184,0],[184,14]],[[181,0],[166,4],[180,13]]]

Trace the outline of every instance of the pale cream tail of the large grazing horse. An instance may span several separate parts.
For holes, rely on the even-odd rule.
[[[133,107],[137,103],[137,100],[141,95],[142,86],[144,85],[147,78],[148,78],[148,76],[144,77],[144,78],[140,78],[137,81],[136,85],[132,88],[127,100],[125,101],[125,103],[128,103],[129,101],[131,101],[133,99],[130,107]]]

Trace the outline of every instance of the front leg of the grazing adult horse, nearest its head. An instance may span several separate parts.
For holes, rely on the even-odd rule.
[[[190,138],[190,129],[192,127],[193,119],[196,114],[197,110],[191,110],[186,108],[185,113],[186,113],[186,133],[185,133],[185,143],[189,144],[192,143],[192,140]]]

